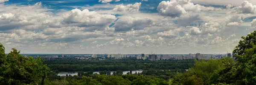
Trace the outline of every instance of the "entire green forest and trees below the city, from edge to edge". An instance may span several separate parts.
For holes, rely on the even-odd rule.
[[[0,44],[0,85],[255,85],[256,31],[241,37],[234,57],[209,60],[44,60]],[[123,71],[143,69],[142,73]],[[186,71],[185,69],[188,69]],[[78,75],[58,76],[59,71]],[[93,74],[100,71],[100,74]],[[110,71],[115,71],[110,74]]]

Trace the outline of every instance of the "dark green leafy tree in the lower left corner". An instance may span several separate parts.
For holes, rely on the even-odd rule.
[[[44,59],[23,57],[15,48],[5,56],[3,49],[3,45],[0,44],[0,85],[44,85],[49,72],[49,68],[43,64]]]

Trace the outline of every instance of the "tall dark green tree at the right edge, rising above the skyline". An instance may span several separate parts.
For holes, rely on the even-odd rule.
[[[256,31],[241,37],[234,49],[236,63],[227,65],[220,71],[219,82],[236,85],[253,85],[256,83]]]

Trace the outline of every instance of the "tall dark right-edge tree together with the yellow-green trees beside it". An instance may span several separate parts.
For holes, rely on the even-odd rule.
[[[234,49],[236,62],[230,58],[195,62],[189,71],[169,80],[171,85],[255,85],[256,31],[241,37]]]

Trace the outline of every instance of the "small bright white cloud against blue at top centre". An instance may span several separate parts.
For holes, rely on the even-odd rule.
[[[137,12],[140,9],[141,3],[134,3],[134,4],[128,4],[124,6],[123,4],[116,5],[115,8],[113,8],[113,11],[129,11],[129,12]]]

